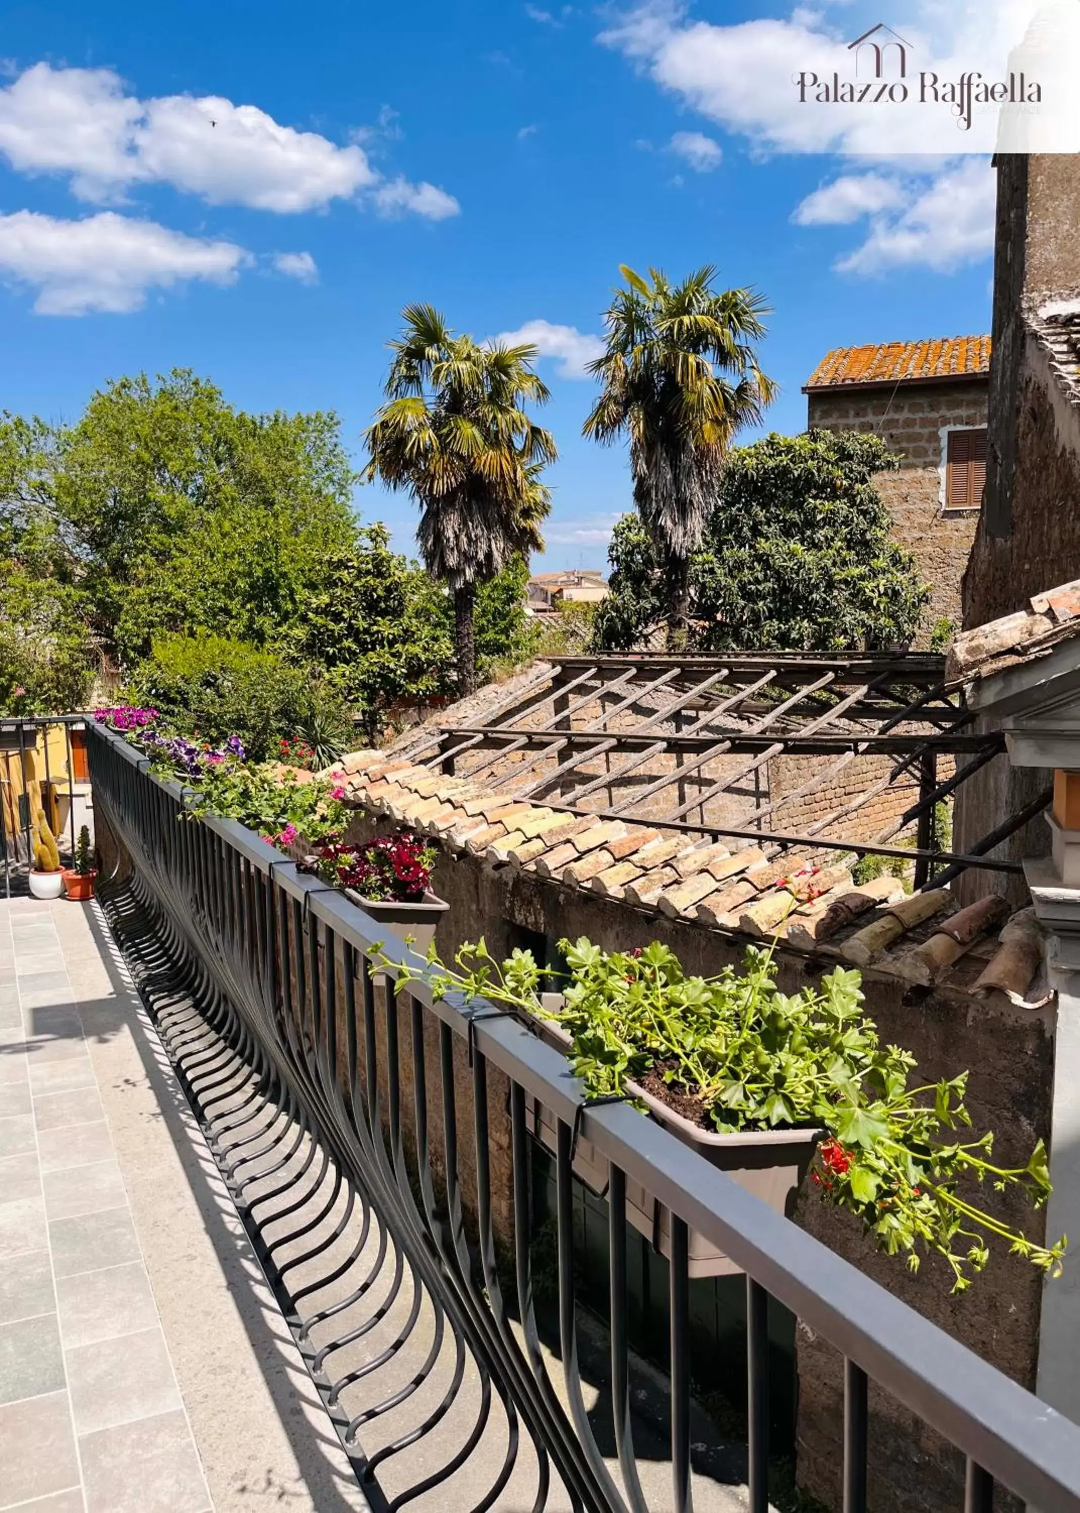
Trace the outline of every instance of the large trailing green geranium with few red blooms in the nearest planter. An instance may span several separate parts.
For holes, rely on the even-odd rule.
[[[920,1085],[914,1056],[880,1045],[858,971],[836,968],[818,986],[785,994],[773,950],[747,950],[743,971],[694,977],[656,943],[625,953],[582,938],[560,949],[569,974],[554,1012],[542,1003],[545,974],[528,952],[499,965],[481,940],[458,952],[454,968],[431,952],[428,971],[440,996],[463,990],[561,1024],[590,1095],[637,1083],[706,1129],[820,1129],[811,1173],[818,1192],[856,1213],[880,1248],[905,1253],[912,1271],[921,1253],[938,1251],[956,1292],[995,1244],[1060,1271],[1063,1239],[1039,1245],[977,1201],[989,1183],[1021,1189],[1041,1207],[1050,1194],[1042,1141],[1026,1165],[997,1167],[992,1133],[965,1139],[968,1074]],[[396,970],[401,990],[411,974]]]

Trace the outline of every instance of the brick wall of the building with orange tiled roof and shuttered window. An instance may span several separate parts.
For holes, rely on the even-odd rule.
[[[961,625],[961,581],[979,520],[977,510],[942,510],[941,431],[947,425],[986,425],[986,395],[982,378],[970,384],[839,387],[808,396],[812,428],[868,431],[903,457],[898,474],[879,475],[877,489],[895,539],[915,555],[932,590],[920,645],[938,620]]]

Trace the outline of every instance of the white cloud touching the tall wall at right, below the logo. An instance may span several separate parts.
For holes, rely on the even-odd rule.
[[[836,266],[853,274],[911,266],[953,272],[982,262],[994,250],[995,204],[989,163],[968,159],[924,182],[900,215],[874,216],[862,247]]]

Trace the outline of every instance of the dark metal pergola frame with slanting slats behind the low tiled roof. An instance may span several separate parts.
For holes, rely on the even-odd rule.
[[[573,655],[548,658],[486,719],[440,725],[411,755],[433,769],[475,778],[507,799],[570,814],[638,820],[685,831],[688,838],[753,840],[768,852],[811,847],[911,859],[915,885],[924,887],[968,867],[1019,871],[1018,864],[986,853],[1050,802],[1047,791],[967,853],[935,846],[936,806],[1006,749],[1001,732],[979,732],[971,723],[962,688],[948,685],[945,660],[935,652]],[[511,770],[493,772],[511,755],[519,758]],[[711,761],[740,755],[747,761],[734,773],[705,779]],[[773,799],[761,775],[781,755],[820,756],[823,764]],[[785,805],[827,788],[867,755],[889,758],[888,773],[803,834],[776,823],[770,828]],[[942,756],[956,760],[956,772],[944,779]],[[672,769],[602,809],[585,803],[656,758],[672,758]],[[597,760],[608,770],[597,773]],[[688,782],[699,782],[690,797]],[[835,835],[836,826],[850,825],[865,805],[900,787],[912,788],[914,802],[882,831],[859,840]],[[673,802],[658,803],[672,788]],[[720,797],[746,800],[746,812],[731,825],[711,820],[706,806]],[[637,812],[646,800],[649,812]],[[889,844],[912,825],[914,847]]]

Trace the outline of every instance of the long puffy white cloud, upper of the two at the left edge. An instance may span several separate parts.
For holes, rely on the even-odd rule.
[[[0,89],[0,154],[20,172],[70,176],[73,192],[92,201],[156,182],[278,213],[369,194],[419,215],[451,213],[433,210],[433,197],[451,197],[431,185],[386,183],[357,142],[339,147],[218,95],[138,100],[109,68],[35,64]]]

